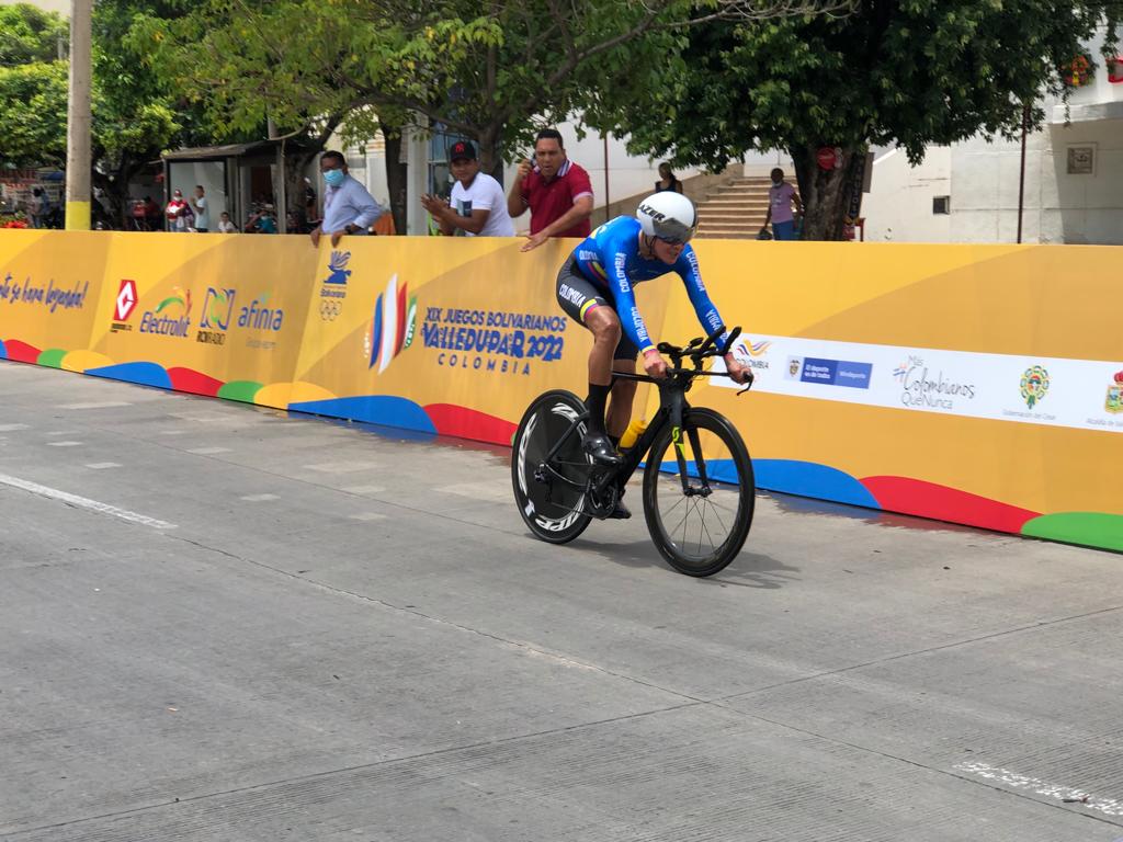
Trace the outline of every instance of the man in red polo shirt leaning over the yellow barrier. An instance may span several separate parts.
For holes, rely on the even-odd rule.
[[[535,140],[535,164],[519,164],[519,174],[506,196],[511,219],[530,208],[530,236],[523,251],[550,237],[587,237],[593,213],[593,184],[588,173],[566,157],[562,132],[542,129]]]

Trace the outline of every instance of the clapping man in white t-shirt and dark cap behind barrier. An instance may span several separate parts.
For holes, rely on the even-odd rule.
[[[421,204],[432,214],[442,234],[463,232],[465,237],[513,237],[514,222],[506,210],[503,187],[487,173],[480,172],[475,147],[458,140],[448,150],[453,165],[453,194],[446,204],[435,195],[422,195]]]

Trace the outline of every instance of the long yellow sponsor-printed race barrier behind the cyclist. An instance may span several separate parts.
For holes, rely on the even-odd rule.
[[[554,300],[573,241],[520,244],[3,231],[0,358],[509,445],[590,349]],[[691,397],[759,487],[1123,550],[1117,248],[696,249],[757,384]],[[654,336],[701,332],[675,276],[637,294]]]

